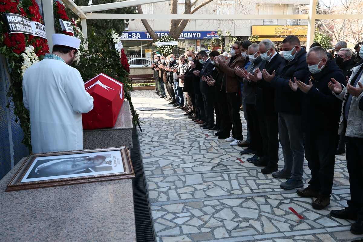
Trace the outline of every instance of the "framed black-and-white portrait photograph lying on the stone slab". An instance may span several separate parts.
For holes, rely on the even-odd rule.
[[[31,154],[5,192],[134,178],[126,147]]]

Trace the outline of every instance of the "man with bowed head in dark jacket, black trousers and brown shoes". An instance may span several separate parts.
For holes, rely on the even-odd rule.
[[[328,59],[325,49],[313,47],[306,56],[310,75],[301,81],[294,78],[289,85],[302,98],[302,130],[305,135],[305,158],[311,179],[309,186],[297,190],[301,197],[317,197],[311,204],[324,209],[330,204],[334,179],[335,151],[338,147],[338,129],[342,101],[329,89],[331,79],[345,84],[338,65]]]

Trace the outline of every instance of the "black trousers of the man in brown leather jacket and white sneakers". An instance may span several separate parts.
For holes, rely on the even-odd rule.
[[[242,123],[240,115],[241,96],[238,93],[227,93],[227,104],[229,117],[232,120],[232,137],[243,140]]]

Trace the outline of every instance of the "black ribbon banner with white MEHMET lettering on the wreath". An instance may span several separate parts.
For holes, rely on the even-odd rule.
[[[32,25],[30,24],[30,20],[26,17],[15,13],[3,13],[1,17],[3,17],[9,34],[23,33],[33,35]]]

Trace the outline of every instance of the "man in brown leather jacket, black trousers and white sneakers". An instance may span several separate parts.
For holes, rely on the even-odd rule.
[[[231,145],[238,145],[243,140],[242,123],[240,116],[241,96],[239,94],[239,82],[234,67],[242,66],[244,57],[241,56],[241,42],[236,41],[231,47],[231,58],[226,62],[225,58],[217,58],[215,60],[216,67],[221,75],[223,75],[221,91],[227,93],[227,103],[229,116],[232,120],[232,137],[225,141],[232,142]]]

